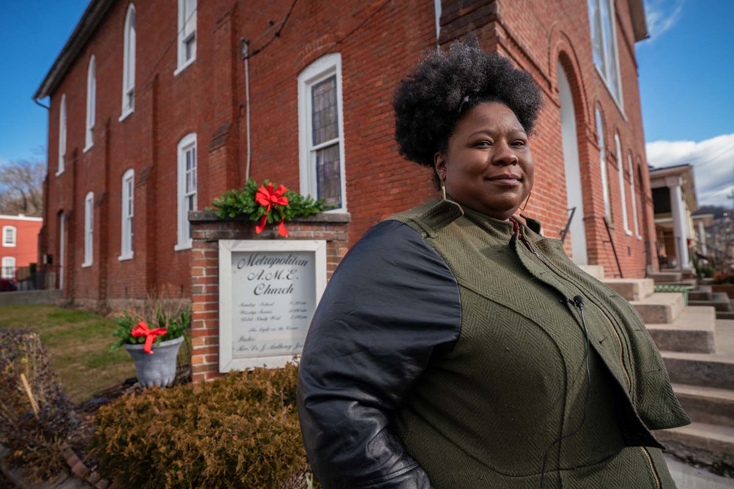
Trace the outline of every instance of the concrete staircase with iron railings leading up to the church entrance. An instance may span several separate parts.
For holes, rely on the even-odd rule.
[[[637,309],[658,345],[673,391],[691,418],[688,426],[655,435],[668,452],[683,459],[734,466],[734,320],[717,319],[724,311],[711,304],[723,301],[717,302],[717,295],[705,286],[688,293],[688,306],[682,293],[653,292],[655,283],[687,284],[680,273],[656,273],[653,282],[606,279],[599,268],[584,269]]]

